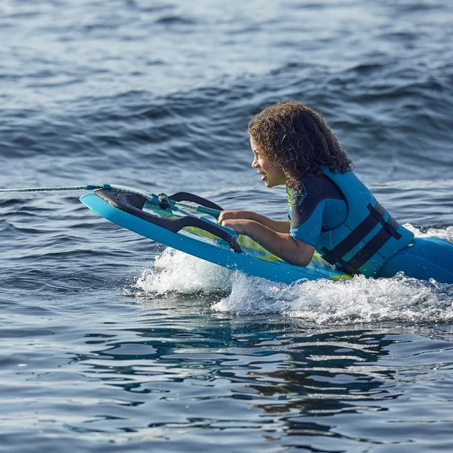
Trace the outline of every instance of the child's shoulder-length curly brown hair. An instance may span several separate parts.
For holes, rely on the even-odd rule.
[[[297,188],[303,176],[323,174],[323,167],[346,173],[354,165],[318,112],[284,101],[265,108],[248,123],[248,134],[265,158],[280,166],[287,186]]]

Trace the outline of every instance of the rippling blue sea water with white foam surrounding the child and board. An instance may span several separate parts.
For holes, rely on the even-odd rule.
[[[453,241],[452,19],[432,0],[4,0],[1,187],[285,216],[246,125],[294,98],[394,217]],[[78,195],[0,196],[1,451],[452,451],[452,285],[236,275]]]

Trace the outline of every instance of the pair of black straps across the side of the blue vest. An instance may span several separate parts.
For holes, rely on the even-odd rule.
[[[348,273],[360,273],[359,268],[361,268],[374,253],[377,253],[379,248],[381,248],[386,241],[391,237],[394,237],[395,239],[401,238],[401,234],[396,231],[399,226],[398,222],[391,216],[387,220],[384,219],[386,210],[382,205],[377,203],[376,206],[373,207],[371,203],[369,203],[367,208],[369,210],[367,217],[365,217],[365,219],[363,219],[362,222],[360,222],[360,224],[343,239],[343,241],[338,243],[332,250],[328,250],[326,247],[321,248],[323,258],[328,263],[338,263]],[[377,224],[381,224],[382,229],[380,229],[377,234],[355,254],[355,256],[350,258],[350,260],[343,260],[343,256],[357,246],[357,243],[360,243],[360,241],[362,241]]]

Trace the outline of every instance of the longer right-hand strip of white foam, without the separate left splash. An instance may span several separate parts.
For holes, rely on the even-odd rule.
[[[235,314],[278,313],[319,325],[377,321],[453,321],[453,285],[398,275],[389,279],[282,285],[241,275],[229,296],[212,306]]]

